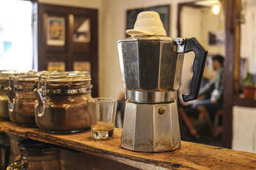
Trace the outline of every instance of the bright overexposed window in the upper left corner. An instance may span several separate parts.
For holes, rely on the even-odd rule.
[[[0,70],[33,69],[32,4],[0,1]]]

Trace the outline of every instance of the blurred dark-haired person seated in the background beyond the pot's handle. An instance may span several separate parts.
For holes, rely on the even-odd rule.
[[[224,57],[221,55],[212,57],[212,67],[216,70],[216,76],[214,80],[209,81],[200,89],[199,100],[192,104],[192,108],[197,108],[200,112],[199,118],[205,118],[212,132],[214,130],[212,120],[214,120],[216,112],[223,108],[223,62]],[[205,99],[204,94],[209,92],[211,92],[211,98]]]

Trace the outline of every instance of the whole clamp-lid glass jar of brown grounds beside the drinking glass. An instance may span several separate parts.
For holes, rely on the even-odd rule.
[[[87,71],[41,74],[36,125],[50,133],[72,133],[90,128],[87,99],[92,92]]]

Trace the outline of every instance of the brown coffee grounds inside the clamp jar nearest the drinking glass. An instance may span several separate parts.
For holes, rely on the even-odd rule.
[[[51,95],[45,97],[45,113],[36,117],[38,127],[47,132],[68,133],[90,127],[87,94]]]

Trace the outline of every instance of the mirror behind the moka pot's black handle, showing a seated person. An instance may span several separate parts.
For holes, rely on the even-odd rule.
[[[178,34],[180,37],[198,38],[208,50],[207,65],[201,89],[207,89],[197,101],[183,103],[180,99],[180,131],[182,140],[222,146],[222,115],[223,115],[223,60],[225,60],[225,12],[220,1],[194,1],[179,4]],[[223,59],[217,62],[216,55]],[[195,53],[190,52],[184,57],[180,93],[188,92],[193,76]],[[216,85],[219,83],[218,85]],[[214,94],[215,93],[215,94]],[[214,95],[216,97],[214,101]]]

